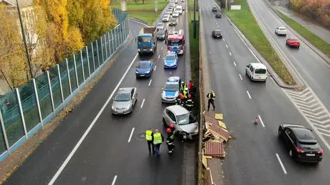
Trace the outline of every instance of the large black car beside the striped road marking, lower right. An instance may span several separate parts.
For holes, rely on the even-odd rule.
[[[300,124],[281,124],[278,127],[278,138],[285,143],[289,156],[294,160],[315,163],[322,160],[323,150],[311,129]]]

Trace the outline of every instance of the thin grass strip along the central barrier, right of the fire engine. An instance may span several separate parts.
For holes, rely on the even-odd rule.
[[[190,43],[190,67],[191,79],[193,82],[199,80],[199,22],[197,22],[197,36],[194,39],[194,2],[186,1],[188,3],[188,24],[189,24],[189,43]],[[196,12],[196,19],[198,19],[198,12]]]

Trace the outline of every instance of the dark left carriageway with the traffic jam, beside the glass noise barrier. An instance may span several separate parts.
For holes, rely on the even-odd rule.
[[[184,28],[184,16],[185,12],[179,17],[177,29]],[[144,27],[134,21],[129,23],[133,35]],[[157,158],[148,155],[143,137],[149,127],[159,129],[166,137],[162,126],[162,111],[166,105],[161,102],[161,88],[168,76],[184,79],[184,56],[179,57],[177,69],[165,70],[162,61],[166,54],[164,41],[158,41],[153,56],[135,54],[137,49],[133,40],[83,102],[5,184],[49,183],[121,78],[119,87],[137,87],[137,104],[133,113],[113,116],[111,100],[54,184],[181,184],[183,144],[177,142],[172,156],[167,155],[166,144],[162,144],[161,156]],[[139,61],[149,59],[155,63],[151,78],[136,79],[135,66]],[[128,73],[123,76],[126,69]]]

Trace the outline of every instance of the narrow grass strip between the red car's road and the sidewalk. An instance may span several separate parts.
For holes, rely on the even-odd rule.
[[[320,37],[318,37],[313,32],[309,31],[307,28],[305,28],[303,25],[300,25],[300,23],[297,23],[294,21],[294,19],[291,19],[287,17],[282,12],[276,11],[278,13],[278,16],[285,21],[291,28],[293,28],[298,34],[303,36],[309,43],[314,45],[318,50],[322,51],[324,54],[327,54],[330,56],[330,44],[326,41],[323,41]]]

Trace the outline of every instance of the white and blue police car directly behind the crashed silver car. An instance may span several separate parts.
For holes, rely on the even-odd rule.
[[[179,96],[181,79],[179,76],[170,76],[162,88],[162,102],[175,102]]]

